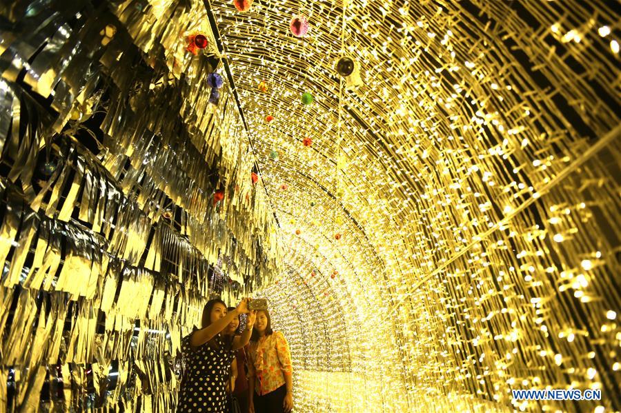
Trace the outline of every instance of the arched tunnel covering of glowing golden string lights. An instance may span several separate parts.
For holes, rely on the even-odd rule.
[[[618,45],[598,32],[618,21],[613,6],[255,1],[242,13],[208,4],[280,223],[289,270],[262,294],[293,343],[303,408],[338,411],[354,397],[364,411],[524,409],[509,388],[542,379],[513,365],[515,343],[531,349],[517,364],[560,368],[557,350],[527,331],[545,319],[535,314],[566,305],[546,274],[562,279],[580,262],[556,242],[578,224],[550,222],[584,205],[567,192],[584,182],[577,168],[610,167],[611,155],[589,158],[618,145]],[[288,28],[297,14],[310,23],[304,37]],[[357,88],[335,72],[343,56],[361,67]],[[610,265],[600,269],[613,274]],[[540,300],[553,303],[540,310]],[[558,340],[579,324],[547,320]],[[537,361],[541,352],[555,364]],[[361,380],[372,390],[353,396],[348,386]]]

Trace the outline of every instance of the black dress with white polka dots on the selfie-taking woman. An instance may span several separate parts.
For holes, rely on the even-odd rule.
[[[226,350],[220,337],[215,339],[219,348],[213,348],[208,343],[193,348],[190,335],[181,340],[188,371],[179,392],[177,412],[227,412],[225,387],[235,352]]]

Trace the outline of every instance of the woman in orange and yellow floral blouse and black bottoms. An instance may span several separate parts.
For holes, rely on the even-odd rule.
[[[257,311],[248,345],[248,410],[281,413],[293,409],[293,369],[289,345],[282,332],[272,331],[270,313]]]

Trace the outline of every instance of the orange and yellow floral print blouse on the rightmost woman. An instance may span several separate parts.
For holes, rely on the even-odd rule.
[[[289,345],[282,332],[275,331],[248,345],[248,376],[255,376],[259,396],[284,385],[284,373],[293,373]]]

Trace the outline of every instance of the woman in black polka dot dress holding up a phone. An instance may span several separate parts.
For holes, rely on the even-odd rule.
[[[201,330],[181,340],[186,373],[181,382],[177,412],[225,413],[228,411],[226,381],[235,351],[244,347],[253,332],[256,312],[248,310],[243,299],[233,311],[227,311],[221,299],[210,300],[203,310]],[[239,314],[248,313],[246,330],[241,336],[224,336],[222,331]]]

